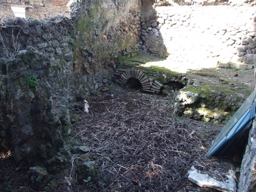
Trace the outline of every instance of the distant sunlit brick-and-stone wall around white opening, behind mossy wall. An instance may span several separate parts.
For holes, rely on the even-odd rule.
[[[14,13],[11,7],[25,8],[26,18],[46,18],[58,15],[69,16],[68,0],[1,0],[0,17],[13,17]]]

